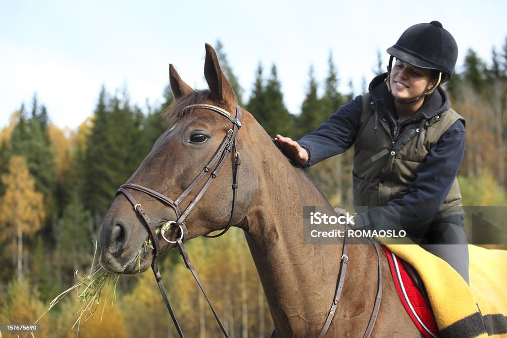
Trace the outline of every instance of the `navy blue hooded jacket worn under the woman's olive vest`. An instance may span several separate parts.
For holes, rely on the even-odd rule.
[[[382,101],[389,114],[396,120],[394,100],[383,82],[385,76],[386,74],[382,74],[376,77],[370,84],[369,92],[374,100]],[[445,91],[439,89],[426,97],[419,110],[424,110],[425,116],[431,118],[449,107],[450,101]],[[303,167],[314,165],[350,148],[359,130],[362,111],[363,96],[357,96],[341,106],[314,132],[299,140],[298,143],[309,155]],[[465,126],[458,120],[430,149],[425,161],[418,168],[416,179],[409,185],[409,192],[403,198],[389,201],[386,207],[442,205],[463,160],[464,147]],[[362,219],[355,217],[356,225],[378,223],[382,219],[388,219],[390,216],[388,213],[389,208],[385,207],[370,209],[367,213],[360,214]],[[430,217],[432,215],[427,216],[427,218]],[[460,220],[456,222],[459,223]]]

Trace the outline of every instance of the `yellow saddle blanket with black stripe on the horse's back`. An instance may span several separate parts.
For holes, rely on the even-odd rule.
[[[418,245],[385,246],[421,276],[441,337],[507,337],[507,250],[468,245],[468,286],[446,261]]]

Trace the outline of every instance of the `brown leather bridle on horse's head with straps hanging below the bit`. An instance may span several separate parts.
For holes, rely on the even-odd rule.
[[[239,128],[241,128],[241,107],[239,105],[236,107],[236,117],[232,116],[229,111],[227,111],[221,107],[211,105],[211,104],[192,104],[192,105],[185,107],[183,110],[185,111],[185,110],[190,110],[190,109],[207,109],[207,110],[212,110],[214,112],[217,112],[218,114],[225,116],[226,118],[228,118],[232,122],[232,128],[229,129],[229,131],[225,135],[224,139],[222,140],[222,143],[216,149],[215,153],[213,154],[213,156],[211,157],[209,162],[204,166],[202,171],[199,173],[199,175],[197,175],[197,177],[192,181],[192,183],[190,183],[190,185],[187,187],[187,189],[185,189],[173,201],[173,200],[167,198],[166,196],[164,196],[160,193],[157,193],[156,191],[151,190],[151,189],[144,187],[142,185],[138,185],[138,184],[134,184],[134,183],[125,183],[120,186],[120,189],[118,189],[118,191],[116,192],[116,195],[123,194],[127,198],[127,200],[134,207],[134,210],[136,211],[136,213],[144,220],[144,226],[147,228],[148,232],[150,233],[151,239],[154,244],[153,261],[152,261],[152,265],[151,265],[152,270],[153,270],[153,273],[155,274],[155,278],[157,279],[157,283],[159,285],[160,292],[162,293],[162,297],[164,298],[164,302],[167,306],[167,309],[169,310],[169,314],[171,315],[171,318],[174,322],[174,326],[176,327],[176,330],[178,331],[179,336],[183,337],[184,335],[183,335],[181,328],[179,327],[176,317],[174,316],[174,313],[172,311],[171,305],[167,299],[164,285],[162,284],[162,275],[160,274],[160,272],[158,270],[158,266],[157,266],[157,259],[160,254],[160,244],[159,244],[159,239],[157,236],[157,234],[159,234],[159,233],[165,241],[167,241],[168,243],[175,243],[178,246],[179,252],[180,252],[180,254],[182,254],[183,259],[185,261],[185,265],[192,272],[192,274],[194,275],[194,278],[196,279],[197,283],[199,284],[199,287],[201,288],[204,296],[206,297],[206,300],[211,308],[211,311],[213,312],[213,315],[215,316],[216,321],[219,323],[219,326],[222,329],[222,332],[224,333],[224,335],[226,337],[229,337],[229,335],[227,334],[227,332],[224,328],[224,325],[220,321],[220,318],[218,317],[215,310],[211,306],[209,298],[208,298],[206,292],[204,291],[204,287],[202,286],[201,281],[199,280],[199,277],[197,276],[197,273],[195,272],[194,266],[192,265],[192,262],[190,261],[190,258],[187,254],[187,251],[185,250],[183,243],[186,242],[189,237],[188,230],[187,230],[187,227],[185,224],[185,219],[190,214],[192,209],[194,209],[194,207],[197,205],[197,203],[199,203],[200,199],[202,198],[202,196],[204,195],[204,193],[208,189],[209,185],[211,184],[211,181],[218,175],[220,169],[222,169],[223,165],[226,162],[227,154],[232,153],[232,152],[234,152],[235,163],[234,163],[234,169],[233,169],[233,183],[232,183],[233,198],[232,198],[231,217],[229,219],[229,223],[227,224],[227,226],[225,227],[225,229],[221,233],[219,233],[218,235],[204,235],[204,236],[205,237],[222,236],[233,225],[232,222],[234,219],[234,209],[236,206],[236,190],[238,188],[238,171],[239,171],[239,166],[241,164],[239,153],[237,151],[237,142],[236,142]],[[214,168],[213,168],[213,166],[214,166]],[[208,174],[212,168],[213,168],[213,170],[211,171],[210,174]],[[199,182],[204,178],[204,176],[206,176],[206,174],[208,174],[208,179],[206,180],[206,182],[202,186],[201,190],[197,193],[195,198],[190,202],[190,204],[187,206],[187,208],[182,212],[182,210],[179,207],[180,203],[188,196],[188,194],[190,192],[192,192],[194,190],[194,188],[197,186],[197,184],[199,184]],[[129,190],[136,190],[136,191],[142,192],[146,195],[156,198],[157,200],[159,200],[163,204],[171,207],[174,210],[174,212],[176,213],[176,220],[175,221],[167,221],[161,228],[155,229],[153,227],[150,217],[148,216],[146,211],[144,211],[141,204],[137,203],[137,201],[132,196],[132,194],[130,193]],[[176,234],[178,232],[178,229],[180,231],[180,237],[178,239],[176,239],[175,241],[171,241],[165,237],[165,232],[167,232],[171,226],[174,226],[176,228],[176,230],[175,230]]]

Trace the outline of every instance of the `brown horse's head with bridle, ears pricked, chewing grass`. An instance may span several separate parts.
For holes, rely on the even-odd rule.
[[[195,91],[170,65],[175,101],[164,113],[169,127],[122,185],[104,218],[99,233],[104,269],[146,271],[154,255],[173,247],[176,238],[187,240],[244,222],[257,187],[256,180],[246,179],[255,174],[249,166],[241,166],[238,175],[237,159],[242,153],[243,163],[251,162],[258,154],[243,153],[247,144],[255,143],[255,132],[238,131],[242,125],[259,125],[237,106],[207,44],[204,74],[209,90]],[[260,126],[253,130],[263,132]]]

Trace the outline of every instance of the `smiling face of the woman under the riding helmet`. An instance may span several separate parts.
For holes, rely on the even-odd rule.
[[[391,69],[391,93],[401,101],[410,100],[424,93],[436,83],[430,69],[418,68],[397,60]]]

